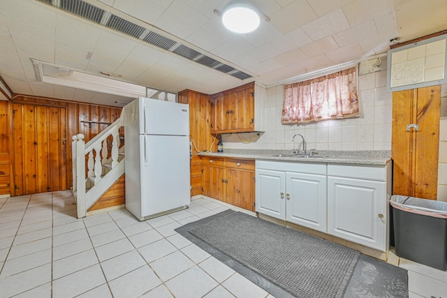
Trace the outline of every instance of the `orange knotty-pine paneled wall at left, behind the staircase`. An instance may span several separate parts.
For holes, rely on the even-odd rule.
[[[14,173],[10,176],[8,193],[15,196],[70,189],[73,180],[71,137],[82,133],[88,142],[107,128],[106,124],[81,121],[112,123],[120,113],[119,107],[51,98],[17,96],[11,101],[0,101],[0,154],[8,155]],[[59,177],[57,185],[54,175]],[[47,182],[43,184],[39,180]],[[0,195],[1,181],[0,174]]]

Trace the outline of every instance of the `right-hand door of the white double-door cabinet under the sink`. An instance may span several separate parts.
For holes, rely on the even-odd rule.
[[[326,177],[286,173],[286,221],[326,232]]]

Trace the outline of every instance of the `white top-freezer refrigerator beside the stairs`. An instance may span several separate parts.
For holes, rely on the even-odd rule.
[[[136,100],[138,117],[124,126],[126,209],[144,221],[191,201],[189,105]]]

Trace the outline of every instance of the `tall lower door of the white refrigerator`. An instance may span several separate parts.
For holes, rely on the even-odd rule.
[[[140,135],[140,144],[142,217],[188,206],[189,137]]]

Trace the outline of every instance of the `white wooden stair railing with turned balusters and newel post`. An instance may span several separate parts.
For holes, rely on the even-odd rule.
[[[82,133],[72,137],[73,195],[78,218],[85,217],[91,205],[124,174],[124,146],[119,148],[121,124],[115,121],[87,144]]]

